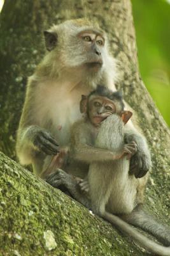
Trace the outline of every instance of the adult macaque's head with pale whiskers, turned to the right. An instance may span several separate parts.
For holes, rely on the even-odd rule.
[[[93,76],[115,70],[106,33],[92,20],[66,20],[44,31],[44,36],[47,51],[56,54],[64,68],[81,66],[86,72],[92,70]]]

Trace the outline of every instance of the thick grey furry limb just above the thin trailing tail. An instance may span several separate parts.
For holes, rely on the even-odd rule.
[[[144,231],[155,236],[165,246],[170,245],[170,227],[158,223],[157,220],[150,216],[142,209],[142,205],[136,206],[131,214],[120,216],[127,223],[139,227]]]

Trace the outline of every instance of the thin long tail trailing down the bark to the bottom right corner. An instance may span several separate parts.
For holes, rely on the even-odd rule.
[[[124,234],[132,237],[134,241],[138,242],[138,244],[148,250],[148,252],[152,252],[160,256],[170,256],[170,247],[162,246],[148,239],[148,237],[135,230],[131,225],[126,223],[124,220],[121,220],[118,216],[109,212],[104,212],[103,218],[122,230]]]

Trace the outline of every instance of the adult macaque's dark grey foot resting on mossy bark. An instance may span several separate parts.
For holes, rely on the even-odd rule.
[[[90,209],[90,200],[81,192],[78,180],[73,175],[69,175],[63,170],[57,169],[55,173],[48,177],[46,182],[54,188],[59,188],[59,186],[63,185],[75,200]]]

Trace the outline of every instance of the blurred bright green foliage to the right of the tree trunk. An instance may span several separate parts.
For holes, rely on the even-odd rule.
[[[170,127],[170,0],[131,0],[139,69]]]

